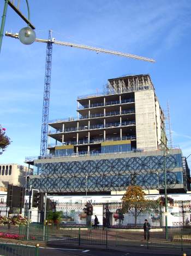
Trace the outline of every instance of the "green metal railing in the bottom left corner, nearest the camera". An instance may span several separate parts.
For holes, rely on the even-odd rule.
[[[39,256],[39,244],[31,246],[28,244],[13,244],[0,241],[0,254],[3,256]]]

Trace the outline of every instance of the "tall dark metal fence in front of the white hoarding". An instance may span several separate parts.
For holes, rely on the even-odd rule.
[[[113,229],[142,229],[144,220],[147,219],[152,229],[165,226],[165,207],[156,201],[144,203],[92,203],[93,216],[87,219],[85,203],[56,203],[55,212],[61,212],[59,225],[68,227],[85,227],[94,224],[94,215],[97,215],[99,224]],[[40,221],[39,212],[38,221]],[[48,217],[47,212],[46,217]],[[191,226],[191,202],[175,201],[168,204],[168,225],[175,229],[185,225]],[[190,224],[189,224],[190,223]]]

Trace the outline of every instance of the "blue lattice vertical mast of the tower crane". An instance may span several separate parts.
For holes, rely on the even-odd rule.
[[[47,132],[49,124],[50,81],[52,66],[52,31],[49,30],[49,41],[46,45],[46,66],[44,79],[43,117],[41,124],[40,156],[46,156]]]

